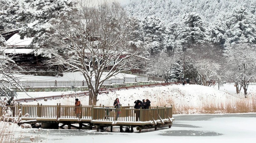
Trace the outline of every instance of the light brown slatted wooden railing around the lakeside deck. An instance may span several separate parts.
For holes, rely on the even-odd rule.
[[[86,120],[86,121],[113,121],[119,122],[147,122],[153,120],[165,120],[172,118],[172,107],[150,107],[150,109],[133,109],[132,106],[124,106],[120,109],[111,108],[112,106],[80,106],[72,105],[16,105],[10,106],[16,118],[22,117],[24,120],[40,119],[41,121],[48,120]],[[110,108],[106,108],[110,107]],[[5,107],[0,107],[2,114],[5,114]],[[21,109],[21,115],[18,113]],[[80,109],[80,114],[77,116],[76,110]],[[117,115],[117,112],[121,114]],[[27,115],[26,115],[27,114]]]

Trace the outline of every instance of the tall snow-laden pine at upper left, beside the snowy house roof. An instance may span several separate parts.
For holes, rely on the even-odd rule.
[[[52,21],[62,22],[60,16],[65,16],[68,12],[76,10],[73,0],[25,0],[33,11],[20,11],[19,23],[22,28],[19,31],[21,38],[34,37],[29,45],[35,49],[35,55],[51,57],[51,53],[47,53],[49,37],[54,33]],[[26,18],[24,18],[24,15]]]

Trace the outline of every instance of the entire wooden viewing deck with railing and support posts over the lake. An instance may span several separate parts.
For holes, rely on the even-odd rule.
[[[2,114],[3,107],[0,107]],[[21,114],[18,113],[21,109]],[[79,116],[75,111],[79,109],[81,112]],[[121,114],[116,114],[121,111]],[[136,116],[136,114],[138,116]],[[75,127],[77,129],[96,129],[99,131],[104,127],[120,126],[133,127],[141,132],[142,129],[157,128],[157,127],[171,127],[172,121],[172,107],[150,107],[150,109],[133,109],[133,106],[121,106],[121,109],[113,108],[112,106],[80,106],[72,105],[16,105],[15,117],[22,118],[24,123],[62,123],[68,125],[68,128]],[[27,115],[26,115],[27,114]],[[1,117],[2,118],[2,117]],[[76,127],[72,124],[79,124]]]

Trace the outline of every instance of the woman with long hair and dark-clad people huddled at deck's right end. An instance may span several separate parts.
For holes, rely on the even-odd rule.
[[[148,99],[146,100],[143,99],[142,101],[136,100],[134,103],[135,103],[134,109],[140,109],[140,107],[142,109],[149,109],[151,102]],[[113,105],[115,108],[120,109],[121,104],[120,104],[119,98],[116,98]],[[121,111],[117,110],[117,118],[119,117],[120,114],[121,114]],[[136,121],[138,121],[140,117],[140,110],[135,110],[135,114],[136,114]]]

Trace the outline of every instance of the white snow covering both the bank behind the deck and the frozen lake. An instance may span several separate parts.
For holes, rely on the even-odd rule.
[[[79,80],[79,76],[76,75],[66,75],[63,79],[62,77],[58,78],[60,80],[70,79],[70,80]],[[122,77],[122,76],[120,76]],[[57,77],[40,77],[40,76],[30,76],[26,77],[26,80],[30,78],[31,80],[54,80]],[[51,79],[50,79],[51,78]],[[82,78],[82,77],[80,77]],[[256,95],[256,85],[249,85],[249,97],[255,97]],[[51,96],[51,95],[60,95],[71,93],[69,92],[28,92],[31,96]],[[241,91],[243,93],[243,90]],[[109,94],[101,94],[98,96],[99,101],[97,105],[113,105],[114,100],[118,97],[122,105],[126,106],[128,104],[134,105],[134,101],[139,99],[149,99],[152,106],[163,106],[163,105],[188,105],[200,108],[202,103],[225,103],[230,100],[239,100],[244,99],[243,94],[235,94],[234,84],[224,84],[223,87],[220,87],[220,90],[217,87],[205,87],[199,85],[172,85],[166,87],[147,87],[147,88],[138,88],[132,90],[123,90],[110,92]],[[22,97],[21,97],[22,95]],[[18,93],[18,97],[25,97],[24,93]],[[88,105],[88,97],[78,97],[82,105]],[[61,103],[62,105],[74,105],[75,98],[65,98],[57,100],[48,100],[48,101],[39,101],[43,105],[56,105]],[[171,101],[171,102],[170,102]],[[22,104],[37,104],[36,101],[22,103]],[[255,114],[255,113],[252,113]],[[35,139],[39,139],[37,142],[88,142],[88,143],[102,143],[102,142],[113,142],[117,140],[118,142],[124,143],[133,143],[133,142],[191,142],[191,143],[203,143],[203,142],[252,142],[255,141],[256,137],[256,124],[254,117],[225,117],[225,118],[212,118],[210,120],[203,121],[182,121],[179,120],[179,115],[174,115],[175,122],[188,125],[188,127],[171,127],[163,128],[158,131],[153,132],[143,132],[143,133],[120,133],[116,127],[117,132],[96,132],[95,130],[49,130],[43,129],[42,131],[37,131],[35,129],[21,129],[21,127],[13,126],[15,128],[15,136],[25,137],[21,142],[30,142],[29,138],[32,136]],[[199,115],[200,116],[200,115]],[[0,122],[0,125],[3,122]],[[6,123],[4,123],[6,125]],[[1,125],[2,126],[2,125]],[[198,128],[193,129],[191,127],[198,126]],[[35,130],[35,131],[34,131]],[[169,136],[175,132],[182,131],[190,132],[189,135],[182,136]],[[14,130],[13,130],[14,132]],[[33,133],[34,132],[34,133]],[[201,134],[199,134],[201,132]],[[205,132],[216,132],[219,135],[216,136],[203,136]],[[177,134],[177,133],[176,133]],[[183,133],[184,134],[184,133]]]

